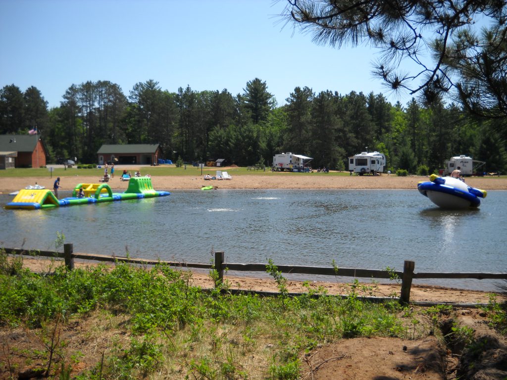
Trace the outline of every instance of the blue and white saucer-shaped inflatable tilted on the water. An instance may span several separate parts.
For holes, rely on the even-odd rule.
[[[459,178],[436,174],[431,174],[428,182],[419,182],[417,189],[431,202],[447,209],[477,208],[481,205],[481,198],[487,195],[485,190],[467,186]]]

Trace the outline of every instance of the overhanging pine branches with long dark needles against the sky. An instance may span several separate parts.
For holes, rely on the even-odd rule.
[[[501,121],[497,128],[507,135],[505,2],[287,1],[284,17],[312,31],[317,44],[369,41],[380,49],[374,72],[390,89],[422,93],[429,103],[456,89],[469,112]],[[413,72],[403,60],[416,65]]]

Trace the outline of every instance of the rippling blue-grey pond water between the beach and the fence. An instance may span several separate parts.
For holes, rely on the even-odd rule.
[[[479,209],[446,211],[417,190],[174,191],[48,210],[2,208],[0,244],[52,250],[59,232],[76,252],[171,261],[209,263],[213,250],[223,250],[228,262],[329,267],[334,260],[342,268],[401,271],[404,260],[414,260],[415,272],[506,272],[506,195],[491,191]],[[3,205],[11,200],[0,195]],[[482,290],[495,282],[418,281]]]

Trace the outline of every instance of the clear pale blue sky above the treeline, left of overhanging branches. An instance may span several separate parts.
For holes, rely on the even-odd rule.
[[[111,81],[128,96],[150,79],[163,90],[243,93],[265,81],[278,104],[295,87],[383,93],[374,50],[316,46],[284,26],[285,0],[0,0],[0,88],[37,87],[50,107],[86,81]]]

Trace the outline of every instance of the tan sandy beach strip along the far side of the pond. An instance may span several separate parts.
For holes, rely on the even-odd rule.
[[[227,168],[224,168],[225,170]],[[74,175],[61,176],[61,190],[71,190],[78,183],[97,183],[99,176],[81,176],[79,169]],[[135,169],[133,169],[135,170]],[[285,189],[417,189],[417,183],[429,180],[428,177],[395,175],[381,176],[334,176],[320,173],[293,174],[263,172],[262,174],[235,175],[231,168],[229,174],[232,180],[204,181],[200,175],[185,176],[152,176],[153,187],[157,190],[199,189],[202,185],[213,185],[219,189],[256,189],[256,188],[285,188]],[[69,170],[69,172],[71,172]],[[29,177],[29,178],[3,178],[0,181],[0,192],[9,193],[24,188],[29,184],[38,184],[52,189],[55,178]],[[466,178],[469,186],[489,190],[507,190],[507,178],[504,177],[469,177]],[[109,182],[112,189],[124,191],[128,182],[121,181],[119,176]]]

